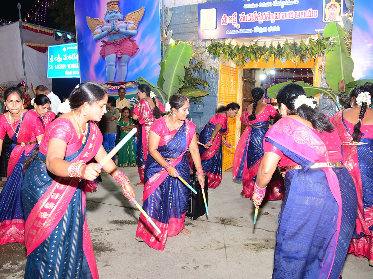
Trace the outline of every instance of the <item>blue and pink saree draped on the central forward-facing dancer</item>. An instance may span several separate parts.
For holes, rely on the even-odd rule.
[[[160,122],[158,120],[156,123]],[[195,125],[185,121],[180,129],[162,135],[158,147],[162,157],[166,158],[187,182],[189,182],[189,166],[185,152],[194,133]],[[169,176],[150,155],[144,175],[142,208],[160,228],[161,233],[158,234],[140,214],[136,236],[141,237],[150,247],[163,250],[167,237],[179,234],[184,228],[190,191],[178,179]]]

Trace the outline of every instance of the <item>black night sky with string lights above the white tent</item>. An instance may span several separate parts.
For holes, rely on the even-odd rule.
[[[37,9],[40,4],[42,3],[42,0],[39,0],[40,2],[35,3],[35,0],[3,0],[1,1],[1,6],[0,6],[0,18],[2,19],[7,19],[10,21],[17,21],[19,19],[19,14],[18,14],[18,9],[17,9],[17,4],[18,2],[21,4],[21,17],[22,20],[27,16],[27,13],[29,9],[32,8],[33,12],[35,12],[35,9]],[[65,0],[54,0],[54,1],[65,1]],[[34,6],[34,3],[36,4],[36,8]],[[52,3],[52,0],[50,0],[50,3]],[[46,12],[46,21],[42,23],[42,26],[46,26],[49,28],[56,28],[60,29],[59,26],[57,26],[54,23],[54,20],[52,17],[48,16],[50,12]],[[31,16],[31,15],[30,15]],[[27,19],[28,21],[28,19]],[[31,23],[34,23],[32,20]]]

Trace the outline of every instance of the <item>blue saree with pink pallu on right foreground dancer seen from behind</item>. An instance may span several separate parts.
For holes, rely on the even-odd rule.
[[[302,166],[302,169],[288,170],[285,176],[286,192],[279,214],[273,278],[339,278],[347,253],[346,247],[342,248],[343,243],[339,241],[339,238],[344,236],[344,241],[349,242],[352,227],[348,221],[345,224],[344,220],[341,230],[342,186],[340,186],[338,173],[339,171],[345,172],[346,178],[343,181],[352,181],[351,177],[345,168],[311,169],[314,163],[329,162],[326,145],[313,129],[290,117],[282,118],[273,125],[264,141],[270,142],[285,156]],[[306,185],[307,188],[305,188]],[[302,201],[302,199],[306,200]],[[320,211],[320,208],[329,208],[328,213]],[[312,214],[308,215],[306,212],[312,212]],[[345,212],[343,214],[345,215]],[[303,221],[298,224],[292,221],[294,218],[300,218]],[[320,224],[313,224],[312,222],[318,218]],[[352,220],[352,223],[354,221]],[[309,227],[308,224],[312,226]],[[291,236],[287,230],[297,231],[297,235]],[[311,236],[307,240],[302,236],[303,234]],[[313,243],[314,237],[316,237],[315,241],[320,238],[319,241],[324,242],[325,245]],[[296,247],[300,243],[304,243],[305,249],[300,249],[300,259],[298,259]],[[304,256],[310,257],[307,256],[306,251],[309,252],[311,248],[314,249],[314,256],[319,257],[316,262],[316,259],[312,257],[308,260],[302,259]],[[317,249],[319,252],[316,253]],[[291,254],[294,256],[292,260]],[[290,269],[289,266],[291,266]],[[289,277],[290,275],[293,277]]]

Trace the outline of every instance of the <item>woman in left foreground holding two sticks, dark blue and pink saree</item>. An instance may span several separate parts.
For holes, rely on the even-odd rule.
[[[107,155],[101,132],[92,122],[106,112],[107,92],[100,83],[85,81],[75,87],[69,101],[64,114],[50,124],[40,150],[25,162],[25,278],[98,279],[85,218],[85,193],[91,188],[81,181],[97,178],[100,168],[86,163],[93,158],[100,162]],[[112,160],[103,169],[135,197],[128,178]]]

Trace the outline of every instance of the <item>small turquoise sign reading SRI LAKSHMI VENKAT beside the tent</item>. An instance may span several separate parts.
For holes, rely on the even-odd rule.
[[[48,78],[80,77],[78,46],[74,44],[48,47]]]

